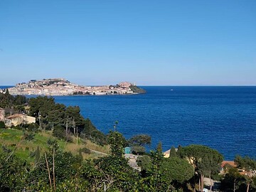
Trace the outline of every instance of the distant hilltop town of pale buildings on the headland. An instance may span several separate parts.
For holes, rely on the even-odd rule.
[[[117,85],[82,86],[64,78],[30,80],[9,88],[11,95],[124,95],[144,92],[130,82],[120,82]]]

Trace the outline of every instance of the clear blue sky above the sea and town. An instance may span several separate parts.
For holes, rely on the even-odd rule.
[[[256,1],[0,1],[0,85],[256,85]]]

